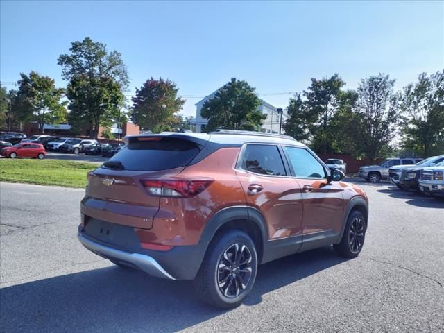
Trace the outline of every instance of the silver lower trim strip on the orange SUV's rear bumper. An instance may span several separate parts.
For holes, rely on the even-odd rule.
[[[85,246],[88,250],[100,255],[101,257],[105,257],[107,259],[118,259],[123,262],[129,262],[133,264],[141,271],[148,273],[149,275],[153,275],[157,278],[167,278],[170,280],[176,280],[173,278],[167,271],[160,266],[158,262],[155,261],[149,255],[142,255],[140,253],[128,253],[121,250],[117,250],[115,248],[111,248],[109,246],[104,246],[96,243],[95,241],[91,241],[84,237],[82,234],[77,234],[77,238],[80,243]]]

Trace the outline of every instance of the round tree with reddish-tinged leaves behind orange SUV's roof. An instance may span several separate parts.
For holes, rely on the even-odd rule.
[[[182,110],[185,99],[178,96],[176,83],[149,78],[133,97],[131,120],[140,128],[159,133],[172,130],[177,123],[176,113]]]

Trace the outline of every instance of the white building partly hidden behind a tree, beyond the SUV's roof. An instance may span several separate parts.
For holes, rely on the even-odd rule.
[[[191,126],[195,127],[196,133],[202,132],[208,123],[208,120],[200,115],[200,110],[202,110],[203,104],[209,99],[212,99],[218,91],[219,89],[217,89],[212,94],[205,96],[204,99],[201,99],[196,103],[196,118],[192,119],[189,122]],[[278,108],[275,108],[273,105],[266,103],[266,101],[262,99],[259,99],[259,101],[261,101],[261,104],[257,107],[257,110],[267,115],[264,123],[262,124],[262,130],[266,133],[279,133],[280,114],[278,113]],[[287,118],[287,111],[284,110],[284,113],[282,114],[282,124]],[[282,130],[282,133],[284,133],[284,130]]]

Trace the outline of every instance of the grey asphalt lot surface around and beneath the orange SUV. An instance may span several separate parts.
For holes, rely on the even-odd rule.
[[[78,244],[83,190],[1,183],[1,332],[444,332],[444,202],[361,183],[357,259],[332,248],[259,268],[230,311],[191,282],[113,266]]]

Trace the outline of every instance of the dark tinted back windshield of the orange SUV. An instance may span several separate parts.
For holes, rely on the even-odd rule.
[[[126,170],[157,171],[185,167],[199,153],[198,144],[171,137],[142,137],[151,141],[130,142],[110,161]],[[155,140],[155,141],[154,141]]]

